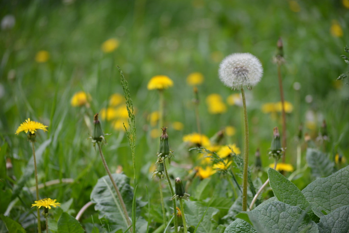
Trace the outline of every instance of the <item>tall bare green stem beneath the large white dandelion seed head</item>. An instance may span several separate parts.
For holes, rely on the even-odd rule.
[[[245,126],[245,153],[244,153],[244,174],[242,184],[242,211],[247,210],[247,170],[248,170],[248,150],[249,150],[249,139],[248,139],[248,119],[246,110],[246,98],[244,88],[241,88],[242,102],[244,108],[244,126]]]

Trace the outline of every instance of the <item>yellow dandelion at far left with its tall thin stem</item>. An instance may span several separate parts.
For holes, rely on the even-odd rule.
[[[30,118],[28,118],[16,130],[16,134],[19,134],[22,131],[24,131],[25,133],[29,132],[27,137],[28,137],[28,141],[31,141],[31,146],[32,146],[32,149],[33,149],[34,172],[35,172],[35,188],[36,188],[36,199],[37,200],[39,200],[39,186],[38,186],[38,169],[36,167],[36,157],[35,157],[35,147],[34,147],[34,143],[36,141],[35,140],[36,139],[35,131],[37,131],[37,130],[47,131],[47,129],[46,129],[47,127],[48,126],[43,125],[40,122],[31,121]],[[40,223],[40,211],[39,211],[39,209],[37,210],[37,216],[38,216],[38,232],[41,233],[41,223]]]

